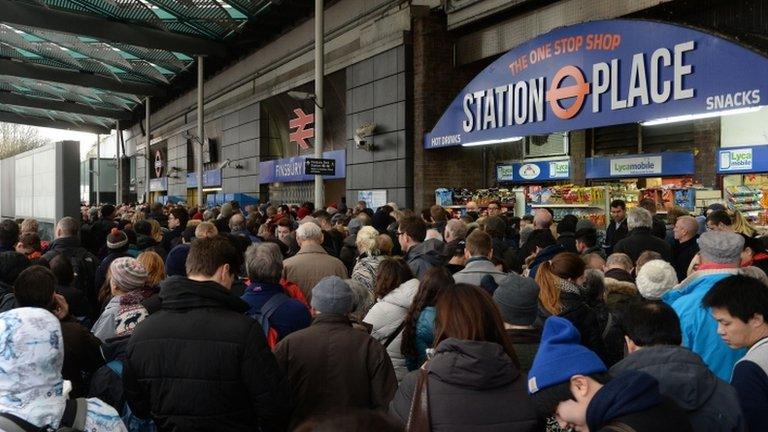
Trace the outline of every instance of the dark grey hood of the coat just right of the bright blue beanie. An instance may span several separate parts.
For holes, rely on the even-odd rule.
[[[655,346],[640,349],[611,368],[611,374],[637,370],[659,381],[660,392],[674,399],[680,408],[701,408],[717,387],[717,377],[701,357],[680,346]]]

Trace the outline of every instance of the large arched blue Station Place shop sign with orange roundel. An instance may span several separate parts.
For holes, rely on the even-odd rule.
[[[553,30],[507,52],[453,100],[427,149],[764,104],[768,59],[698,30],[641,20]]]

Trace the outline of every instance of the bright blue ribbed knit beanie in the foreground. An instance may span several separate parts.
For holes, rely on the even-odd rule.
[[[528,394],[564,383],[574,375],[608,370],[580,341],[579,331],[567,319],[553,316],[544,321],[541,344],[528,372]]]

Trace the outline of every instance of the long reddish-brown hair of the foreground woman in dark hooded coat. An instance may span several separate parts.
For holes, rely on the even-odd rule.
[[[435,309],[435,346],[448,338],[494,342],[520,367],[499,309],[487,291],[470,284],[456,284],[440,291]]]

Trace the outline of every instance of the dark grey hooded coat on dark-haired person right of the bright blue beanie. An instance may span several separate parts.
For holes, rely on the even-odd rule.
[[[659,391],[688,413],[697,432],[744,431],[744,419],[730,384],[717,378],[701,357],[675,345],[642,348],[610,370],[645,372],[659,381]]]

